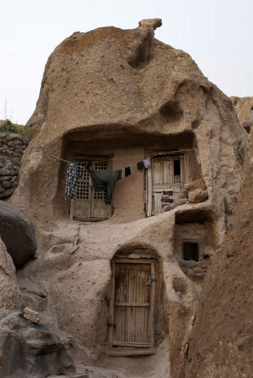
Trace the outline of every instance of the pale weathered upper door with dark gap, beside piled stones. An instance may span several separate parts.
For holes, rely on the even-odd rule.
[[[175,163],[178,173],[175,174]],[[147,172],[147,216],[158,214],[163,206],[177,202],[182,185],[189,181],[186,156],[158,157]]]

